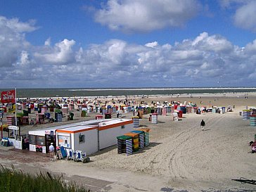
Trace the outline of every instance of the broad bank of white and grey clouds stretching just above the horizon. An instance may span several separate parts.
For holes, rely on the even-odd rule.
[[[254,86],[256,82],[256,40],[239,47],[225,37],[202,32],[175,44],[110,39],[81,47],[72,39],[51,44],[49,38],[32,46],[15,27],[0,23],[0,30],[0,87]]]

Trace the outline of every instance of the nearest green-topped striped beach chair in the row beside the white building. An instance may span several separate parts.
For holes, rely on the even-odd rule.
[[[132,155],[132,136],[117,136],[117,153]]]

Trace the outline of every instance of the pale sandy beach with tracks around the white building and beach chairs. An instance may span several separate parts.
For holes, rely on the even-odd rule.
[[[245,98],[245,95],[248,98]],[[134,99],[134,98],[132,98]],[[0,147],[0,163],[25,169],[63,174],[68,180],[83,184],[92,191],[256,191],[252,184],[241,184],[232,179],[256,179],[256,155],[250,153],[248,143],[254,141],[255,127],[249,120],[242,120],[239,112],[256,105],[255,93],[207,94],[193,96],[155,96],[135,98],[137,102],[151,104],[163,101],[196,103],[198,107],[235,106],[232,112],[186,113],[178,122],[172,116],[158,116],[158,124],[143,115],[140,128],[150,128],[150,146],[132,155],[117,154],[117,146],[105,148],[90,155],[91,162],[66,160],[50,161],[48,157],[30,155],[23,160],[22,153]],[[96,113],[80,117],[74,110],[75,120],[53,123],[65,124],[81,120],[93,120]],[[131,119],[132,113],[122,118]],[[205,120],[205,131],[200,121]],[[24,126],[22,132],[49,127]],[[5,133],[6,134],[6,133]]]

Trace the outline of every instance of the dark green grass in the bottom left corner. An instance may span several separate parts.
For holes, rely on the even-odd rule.
[[[89,192],[75,182],[66,183],[63,176],[53,176],[49,172],[37,175],[25,174],[23,171],[0,167],[0,192]]]

